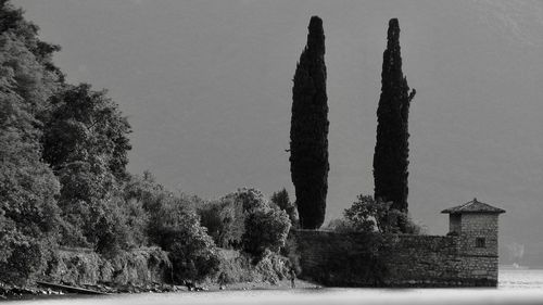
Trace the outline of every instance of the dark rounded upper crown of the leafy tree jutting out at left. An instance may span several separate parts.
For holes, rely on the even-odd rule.
[[[52,98],[54,110],[45,128],[43,158],[54,170],[73,162],[99,162],[116,179],[127,178],[130,125],[105,93],[81,84],[66,86]]]

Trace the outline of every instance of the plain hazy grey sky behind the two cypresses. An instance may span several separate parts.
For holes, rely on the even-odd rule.
[[[324,20],[327,219],[372,194],[388,21],[401,27],[409,114],[409,211],[477,198],[505,208],[503,252],[543,255],[543,1],[14,0],[58,43],[71,82],[105,88],[132,126],[128,168],[217,199],[290,179],[292,77],[312,15]]]

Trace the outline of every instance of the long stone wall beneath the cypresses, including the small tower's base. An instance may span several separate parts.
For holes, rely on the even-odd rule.
[[[291,232],[301,278],[331,287],[494,287],[497,256],[463,251],[458,236]]]

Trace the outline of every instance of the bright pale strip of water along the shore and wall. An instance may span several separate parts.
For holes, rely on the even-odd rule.
[[[43,305],[543,304],[543,270],[501,270],[497,289],[319,289],[143,293],[17,301]]]

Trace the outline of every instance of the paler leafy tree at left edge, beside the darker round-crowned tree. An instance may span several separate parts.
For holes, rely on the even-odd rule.
[[[58,226],[59,181],[41,162],[39,131],[15,94],[0,93],[0,209],[24,234]]]

